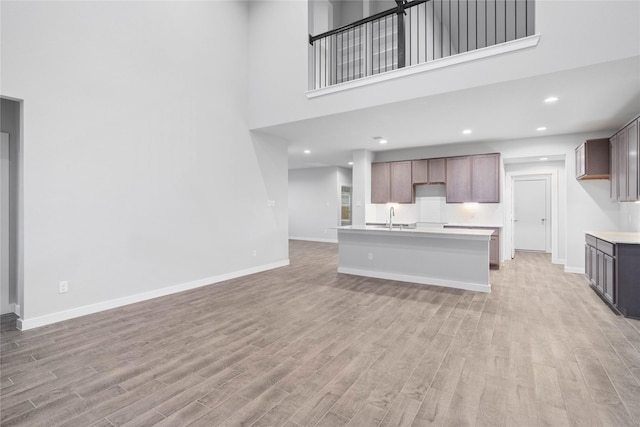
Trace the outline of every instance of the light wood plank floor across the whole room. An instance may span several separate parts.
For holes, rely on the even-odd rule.
[[[291,265],[19,332],[2,426],[638,426],[640,322],[517,253],[490,294]],[[464,266],[460,266],[464,268]]]

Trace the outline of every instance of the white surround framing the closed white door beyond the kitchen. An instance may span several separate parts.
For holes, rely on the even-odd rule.
[[[549,220],[545,221],[545,252],[551,252],[551,262],[554,264],[563,264],[564,261],[558,258],[558,170],[553,168],[542,168],[531,171],[507,172],[505,188],[505,253],[510,254],[513,258],[515,253],[514,247],[514,182],[520,180],[544,179],[547,182],[547,214]]]

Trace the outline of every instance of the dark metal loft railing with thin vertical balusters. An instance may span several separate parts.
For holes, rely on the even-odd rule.
[[[309,35],[311,89],[530,36],[534,0],[396,0],[395,8]]]

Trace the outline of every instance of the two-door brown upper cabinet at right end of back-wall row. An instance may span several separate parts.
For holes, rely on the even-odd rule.
[[[500,154],[447,158],[447,203],[464,202],[500,202]]]

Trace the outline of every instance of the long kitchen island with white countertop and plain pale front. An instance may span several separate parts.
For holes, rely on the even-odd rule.
[[[490,292],[491,230],[338,228],[338,272]]]

